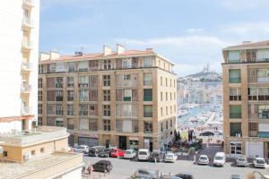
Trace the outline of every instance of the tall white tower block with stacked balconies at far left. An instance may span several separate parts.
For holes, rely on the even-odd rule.
[[[38,115],[39,0],[0,6],[0,133],[22,132]]]

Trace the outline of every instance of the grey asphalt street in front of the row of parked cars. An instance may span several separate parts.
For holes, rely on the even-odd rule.
[[[224,167],[214,167],[214,166],[198,166],[195,165],[193,161],[190,160],[178,160],[175,163],[150,163],[150,162],[138,162],[130,161],[128,159],[120,158],[89,158],[84,157],[83,161],[85,164],[91,161],[91,164],[101,160],[110,160],[113,165],[113,170],[109,175],[104,177],[104,174],[94,173],[94,177],[91,178],[113,178],[113,179],[126,179],[130,177],[138,168],[149,168],[158,169],[161,173],[166,174],[178,174],[180,172],[187,172],[194,175],[195,179],[229,179],[230,175],[241,175],[244,176],[247,172],[252,172],[254,169],[250,167],[237,167],[233,166],[233,163],[226,163]],[[265,169],[255,169],[265,174]]]

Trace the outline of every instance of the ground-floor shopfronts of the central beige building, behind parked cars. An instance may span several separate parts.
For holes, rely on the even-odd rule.
[[[103,145],[119,149],[164,149],[172,141],[173,132],[152,133],[93,133],[70,132],[69,145]]]

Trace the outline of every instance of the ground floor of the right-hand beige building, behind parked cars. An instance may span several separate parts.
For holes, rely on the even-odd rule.
[[[224,151],[230,157],[269,158],[269,139],[229,138],[224,143]]]

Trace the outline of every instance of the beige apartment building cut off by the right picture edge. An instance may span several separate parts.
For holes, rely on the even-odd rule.
[[[269,158],[269,40],[223,49],[224,150]]]

